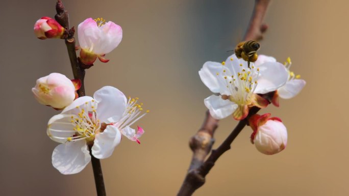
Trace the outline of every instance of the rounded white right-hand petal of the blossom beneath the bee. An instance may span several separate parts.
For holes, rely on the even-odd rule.
[[[285,66],[278,62],[266,62],[259,66],[259,78],[255,93],[265,94],[276,91],[288,79]]]

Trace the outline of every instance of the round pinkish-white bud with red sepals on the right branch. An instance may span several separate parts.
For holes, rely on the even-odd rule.
[[[250,126],[254,130],[251,142],[263,154],[272,155],[281,152],[287,145],[287,129],[279,118],[269,118],[270,114],[253,115]]]

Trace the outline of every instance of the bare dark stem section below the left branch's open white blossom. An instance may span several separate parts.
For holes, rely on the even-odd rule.
[[[106,188],[104,186],[101,161],[92,155],[91,146],[88,147],[91,155],[91,163],[93,169],[94,183],[96,185],[97,196],[106,196]]]

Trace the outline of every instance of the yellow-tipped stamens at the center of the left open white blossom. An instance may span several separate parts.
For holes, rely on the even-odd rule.
[[[83,106],[77,106],[79,109],[78,115],[71,115],[70,122],[73,124],[75,134],[67,138],[67,141],[77,141],[86,139],[87,142],[94,140],[94,135],[101,132],[101,123],[97,119],[95,110],[96,102],[86,102]]]

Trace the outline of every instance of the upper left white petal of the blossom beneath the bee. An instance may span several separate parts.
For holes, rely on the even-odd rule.
[[[206,62],[203,68],[198,72],[201,80],[204,82],[207,88],[213,93],[228,94],[226,81],[223,80],[221,75],[223,69],[220,63]],[[217,75],[219,73],[220,75]]]

